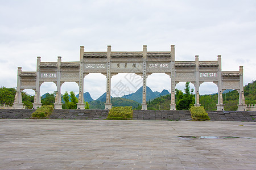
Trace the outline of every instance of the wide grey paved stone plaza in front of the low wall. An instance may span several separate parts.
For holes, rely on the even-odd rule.
[[[256,169],[255,129],[255,122],[2,119],[0,169]]]

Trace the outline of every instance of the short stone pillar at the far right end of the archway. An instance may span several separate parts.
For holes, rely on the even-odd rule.
[[[237,111],[246,111],[245,96],[243,95],[243,66],[239,67],[240,73],[240,90],[239,92],[239,103]]]

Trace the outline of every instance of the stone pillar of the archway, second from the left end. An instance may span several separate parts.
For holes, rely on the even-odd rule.
[[[33,108],[40,108],[42,106],[41,96],[40,96],[40,65],[41,57],[38,57],[36,60],[36,89],[35,89],[35,98],[33,103]]]

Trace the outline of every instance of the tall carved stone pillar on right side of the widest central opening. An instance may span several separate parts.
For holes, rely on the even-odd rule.
[[[143,45],[142,110],[147,110],[147,45]]]

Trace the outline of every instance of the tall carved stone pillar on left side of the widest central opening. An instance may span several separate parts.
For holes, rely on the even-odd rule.
[[[105,109],[111,109],[112,104],[111,100],[111,45],[108,45],[108,53],[107,53],[107,74],[106,74],[106,103]]]

